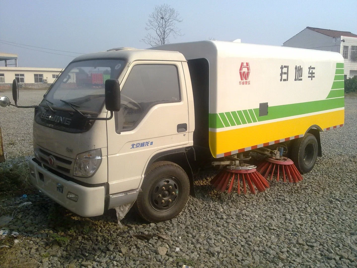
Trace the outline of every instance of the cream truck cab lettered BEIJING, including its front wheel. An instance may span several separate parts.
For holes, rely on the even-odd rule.
[[[112,118],[105,105],[111,79],[120,84],[120,110],[111,111]],[[79,56],[35,109],[30,179],[84,217],[137,199],[145,219],[166,220],[185,205],[190,182],[179,165],[162,159],[185,154],[194,129],[190,73],[181,53],[119,48]]]

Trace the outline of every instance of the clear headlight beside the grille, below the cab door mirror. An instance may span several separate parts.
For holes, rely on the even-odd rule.
[[[102,163],[102,150],[95,149],[78,154],[74,162],[73,175],[82,178],[91,177]]]

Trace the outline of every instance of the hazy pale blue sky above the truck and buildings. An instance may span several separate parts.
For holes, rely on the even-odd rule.
[[[144,49],[145,23],[160,4],[169,4],[182,18],[177,26],[184,35],[170,43],[214,38],[281,46],[307,26],[357,34],[356,0],[0,0],[0,42],[77,53]],[[0,52],[18,54],[21,67],[64,68],[80,55],[17,46],[0,43]]]

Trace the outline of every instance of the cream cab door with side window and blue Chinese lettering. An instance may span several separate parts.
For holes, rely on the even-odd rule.
[[[121,110],[107,121],[109,193],[137,189],[160,150],[188,144],[188,104],[181,62],[134,61],[124,76]]]

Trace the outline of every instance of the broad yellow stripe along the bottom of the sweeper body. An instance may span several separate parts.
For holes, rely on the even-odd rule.
[[[214,157],[234,150],[305,134],[312,125],[321,129],[341,125],[345,110],[309,115],[267,124],[247,126],[220,132],[209,132],[210,149]]]

